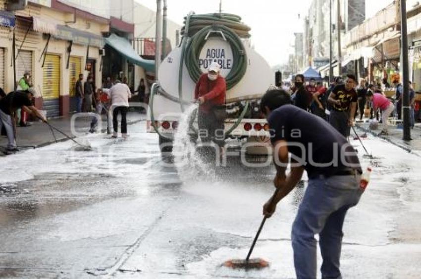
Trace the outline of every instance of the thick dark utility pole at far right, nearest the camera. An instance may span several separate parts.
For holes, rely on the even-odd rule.
[[[402,42],[402,76],[403,76],[403,140],[411,140],[410,105],[409,105],[409,69],[408,69],[408,28],[406,18],[406,0],[401,0],[401,42]]]

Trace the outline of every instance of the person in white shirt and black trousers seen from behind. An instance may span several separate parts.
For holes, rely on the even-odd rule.
[[[111,138],[117,138],[118,133],[118,114],[121,114],[121,136],[127,138],[127,110],[129,108],[129,98],[131,97],[129,87],[116,81],[115,85],[109,90],[111,96],[111,109],[112,109],[112,128],[114,133]]]

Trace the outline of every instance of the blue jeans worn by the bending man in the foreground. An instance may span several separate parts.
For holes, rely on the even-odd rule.
[[[298,279],[316,279],[316,239],[322,278],[341,279],[342,227],[349,208],[360,200],[360,176],[311,179],[292,226],[294,267]]]

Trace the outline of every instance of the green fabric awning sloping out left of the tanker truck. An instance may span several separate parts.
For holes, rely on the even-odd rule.
[[[140,57],[127,39],[111,34],[105,38],[105,44],[114,48],[132,64],[144,68],[147,72],[155,72],[155,60],[146,60]]]

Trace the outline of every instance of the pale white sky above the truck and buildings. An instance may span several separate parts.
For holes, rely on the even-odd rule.
[[[156,9],[156,0],[137,0]],[[312,0],[222,0],[223,12],[238,14],[252,28],[252,43],[267,62],[273,66],[285,63],[294,44],[294,32],[303,31],[303,15],[308,13]],[[219,0],[167,0],[168,17],[183,24],[190,11],[216,12]],[[366,13],[374,15],[392,0],[366,0]],[[259,4],[257,4],[259,3]],[[301,14],[301,19],[298,18]]]

